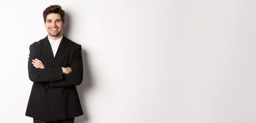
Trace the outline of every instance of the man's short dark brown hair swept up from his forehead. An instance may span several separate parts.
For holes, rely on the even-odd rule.
[[[45,11],[43,11],[43,20],[45,22],[46,22],[47,15],[51,13],[60,14],[62,21],[64,21],[65,11],[61,9],[60,5],[51,5],[47,7]]]

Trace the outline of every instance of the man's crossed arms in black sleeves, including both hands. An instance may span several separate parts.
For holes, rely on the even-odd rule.
[[[32,82],[49,82],[50,88],[80,85],[83,80],[81,45],[75,48],[70,67],[47,68],[41,62],[39,46],[29,47],[28,72]],[[71,69],[72,68],[72,69]]]

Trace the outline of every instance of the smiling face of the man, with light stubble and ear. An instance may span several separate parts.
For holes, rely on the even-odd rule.
[[[45,28],[48,36],[57,40],[62,37],[62,27],[65,25],[65,20],[62,21],[60,14],[50,13],[46,17]]]

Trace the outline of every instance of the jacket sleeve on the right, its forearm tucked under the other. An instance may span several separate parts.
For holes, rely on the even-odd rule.
[[[60,88],[80,85],[83,80],[83,61],[82,61],[82,48],[81,45],[75,50],[74,57],[71,62],[71,72],[63,74],[63,80],[50,82],[50,88]]]

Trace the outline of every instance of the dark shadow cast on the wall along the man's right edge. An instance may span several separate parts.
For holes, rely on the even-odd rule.
[[[66,24],[63,28],[63,34],[65,37],[69,37],[69,30],[71,25],[71,19],[69,16],[69,13],[65,12],[65,21]],[[88,90],[92,86],[92,81],[91,81],[91,74],[89,71],[89,65],[88,65],[88,60],[87,60],[87,54],[85,50],[82,50],[82,59],[83,59],[83,81],[80,85],[76,86],[77,92],[79,95],[79,99],[82,105],[83,109],[83,115],[75,117],[75,123],[87,123],[89,120],[88,114],[87,114],[87,109],[86,109],[86,96]]]

